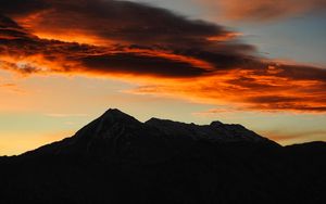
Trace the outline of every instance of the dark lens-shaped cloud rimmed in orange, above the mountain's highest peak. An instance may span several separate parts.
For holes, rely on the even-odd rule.
[[[187,62],[172,61],[164,58],[138,55],[135,53],[116,53],[80,59],[85,67],[93,67],[99,73],[133,73],[165,77],[199,77],[210,74],[201,67]]]

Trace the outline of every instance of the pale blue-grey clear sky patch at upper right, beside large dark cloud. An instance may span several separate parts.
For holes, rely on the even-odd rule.
[[[326,13],[264,22],[230,21],[218,16],[218,8],[200,0],[131,0],[166,8],[190,18],[200,18],[242,33],[243,41],[254,44],[266,58],[326,65]]]

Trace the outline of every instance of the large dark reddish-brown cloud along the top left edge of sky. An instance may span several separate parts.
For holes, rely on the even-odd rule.
[[[222,26],[190,21],[164,9],[128,1],[34,0],[27,2],[0,1],[2,8],[0,11],[23,18],[22,22],[26,26],[38,33],[78,30],[121,42],[176,47],[188,46],[191,41],[192,46],[201,46],[208,37],[229,33]],[[17,8],[14,9],[14,5]]]

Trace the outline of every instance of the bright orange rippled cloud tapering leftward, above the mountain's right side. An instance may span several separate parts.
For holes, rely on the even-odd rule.
[[[233,106],[233,111],[326,111],[325,81],[291,79],[254,71],[233,69],[213,76],[139,87],[129,92],[160,94],[195,102]]]

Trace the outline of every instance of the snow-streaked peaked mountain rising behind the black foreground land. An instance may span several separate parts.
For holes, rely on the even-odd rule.
[[[118,110],[109,110],[75,136],[27,152],[24,156],[65,155],[155,163],[170,160],[198,141],[278,145],[240,125],[213,122],[209,126],[199,126],[158,118],[140,123]]]

